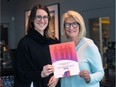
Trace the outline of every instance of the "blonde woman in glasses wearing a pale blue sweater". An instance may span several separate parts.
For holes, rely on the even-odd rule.
[[[80,73],[61,78],[61,87],[100,87],[104,76],[101,55],[93,40],[85,37],[83,17],[72,10],[64,13],[62,29],[67,39],[75,43]]]

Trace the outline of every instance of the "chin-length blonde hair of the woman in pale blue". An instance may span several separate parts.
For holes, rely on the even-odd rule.
[[[63,29],[63,34],[66,35],[66,37],[68,38],[66,32],[65,32],[65,28],[64,28],[64,23],[66,21],[66,18],[68,17],[72,17],[74,18],[78,23],[79,23],[79,26],[80,26],[80,32],[79,32],[79,35],[78,35],[78,38],[82,38],[86,35],[86,27],[85,27],[85,23],[84,23],[84,20],[83,20],[83,17],[76,11],[73,11],[73,10],[70,10],[70,11],[67,11],[66,13],[63,14],[62,16],[62,29]]]

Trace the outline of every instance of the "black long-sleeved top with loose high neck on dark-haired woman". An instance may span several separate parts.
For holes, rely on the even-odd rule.
[[[17,47],[15,60],[15,87],[48,87],[50,76],[41,78],[43,66],[51,64],[49,45],[59,43],[57,39],[48,39],[31,30],[22,38]],[[58,83],[58,86],[59,83]]]

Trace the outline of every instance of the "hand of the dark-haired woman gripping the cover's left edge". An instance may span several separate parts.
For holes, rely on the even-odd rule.
[[[43,70],[41,72],[41,77],[47,77],[50,74],[52,74],[54,72],[54,66],[53,65],[45,65],[43,66]]]

